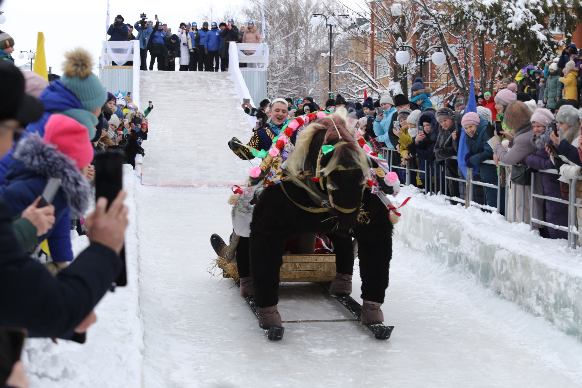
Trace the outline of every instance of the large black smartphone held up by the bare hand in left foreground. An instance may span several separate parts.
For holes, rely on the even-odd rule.
[[[107,208],[123,187],[124,160],[125,153],[118,149],[107,149],[104,153],[95,156],[95,200],[100,197],[107,198]],[[116,286],[127,286],[125,248],[122,248],[119,258],[122,261],[122,269],[118,279],[112,284],[112,291]]]

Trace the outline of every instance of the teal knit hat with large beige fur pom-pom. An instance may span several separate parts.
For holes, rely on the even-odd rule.
[[[61,82],[79,99],[83,109],[93,112],[107,101],[107,90],[93,73],[93,60],[86,49],[66,52]]]

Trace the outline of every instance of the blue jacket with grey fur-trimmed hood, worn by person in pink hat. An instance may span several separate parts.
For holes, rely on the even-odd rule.
[[[14,157],[15,162],[6,172],[6,182],[0,187],[0,197],[17,214],[42,194],[48,178],[61,178],[62,186],[52,201],[55,224],[38,241],[48,240],[54,261],[72,261],[69,208],[81,215],[86,211],[91,195],[88,180],[65,155],[44,144],[38,134],[22,139]]]

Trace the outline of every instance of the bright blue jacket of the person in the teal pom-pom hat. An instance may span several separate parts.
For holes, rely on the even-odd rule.
[[[44,137],[44,126],[53,113],[66,111],[67,109],[83,109],[83,105],[77,97],[59,80],[53,81],[44,91],[39,99],[44,105],[44,114],[42,118],[35,123],[29,124],[24,130],[23,137],[28,136],[31,132],[37,132]],[[0,159],[0,185],[4,184],[6,170],[14,162],[12,153],[14,148],[10,149],[8,154]]]

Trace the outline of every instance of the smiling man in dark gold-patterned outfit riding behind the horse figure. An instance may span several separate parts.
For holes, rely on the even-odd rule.
[[[267,125],[253,134],[253,137],[251,137],[247,146],[255,148],[258,151],[261,151],[261,149],[268,151],[268,149],[271,148],[275,136],[281,133],[283,126],[287,123],[288,109],[287,101],[283,98],[277,98],[271,102],[271,108],[269,109],[271,118],[268,120]],[[295,143],[295,137],[296,136],[293,135],[291,138],[293,144]],[[230,147],[230,149],[232,149],[232,151],[243,160],[253,159],[254,156],[251,150],[247,147],[241,147],[239,143],[241,143],[240,140],[233,137],[228,142],[228,147]]]

